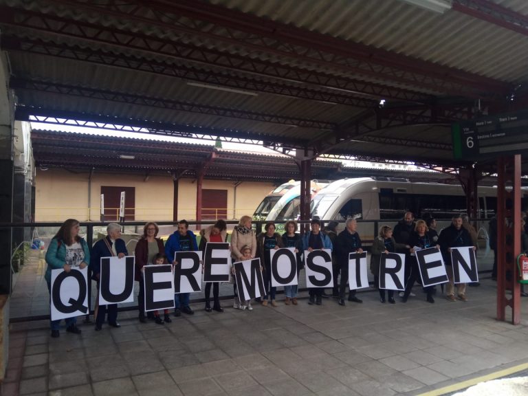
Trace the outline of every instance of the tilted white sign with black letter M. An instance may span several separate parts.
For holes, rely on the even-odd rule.
[[[241,302],[266,294],[261,271],[261,260],[251,259],[233,263],[234,281]]]

